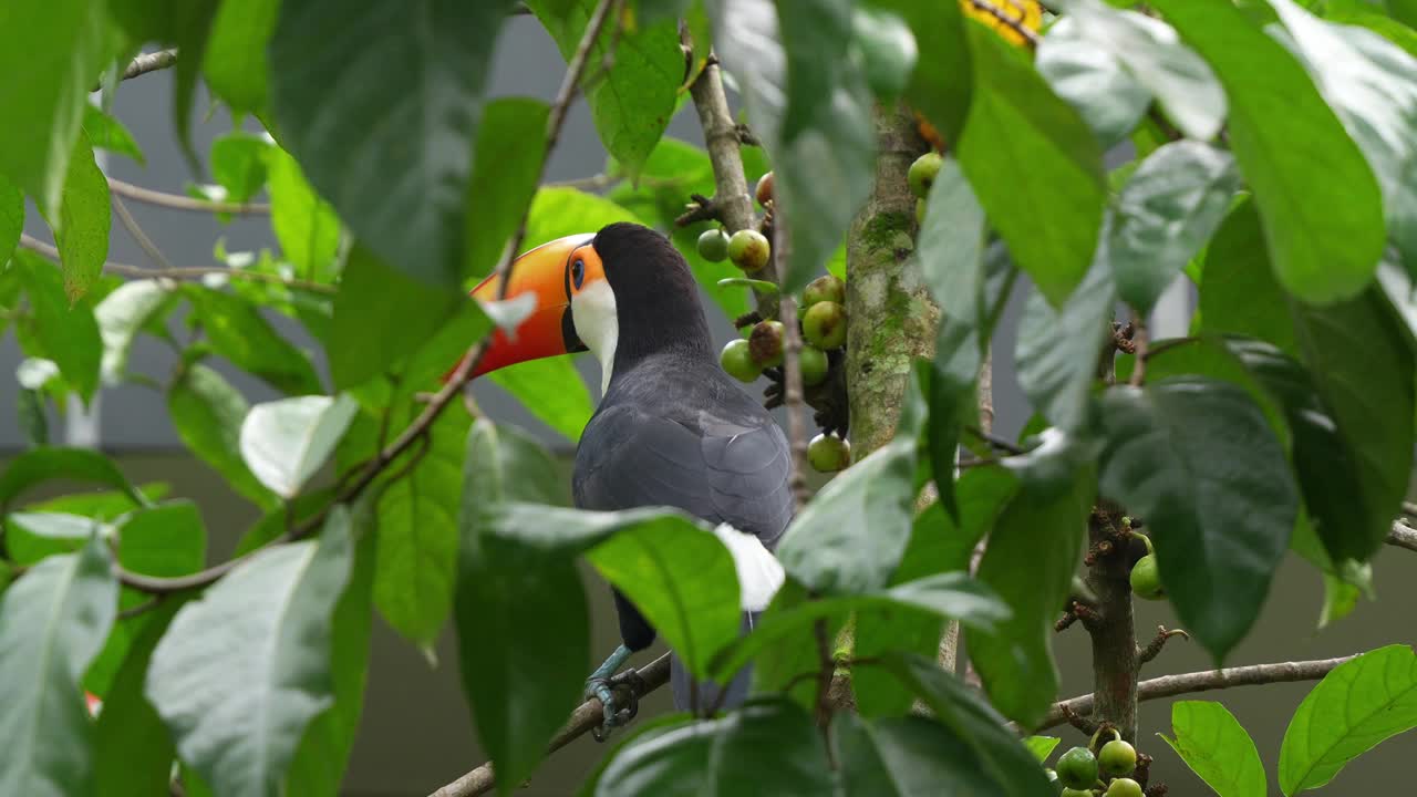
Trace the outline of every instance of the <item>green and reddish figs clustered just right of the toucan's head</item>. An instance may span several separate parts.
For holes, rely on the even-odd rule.
[[[772,206],[772,172],[758,180],[757,200]],[[758,230],[744,228],[733,235],[714,227],[699,235],[699,257],[710,262],[733,261],[750,277],[772,262],[772,244]],[[826,381],[832,360],[828,352],[846,346],[846,284],[826,274],[802,289],[798,298],[798,325],[802,333],[802,386],[811,389]],[[723,370],[740,381],[757,381],[767,369],[782,366],[782,322],[762,319],[751,326],[747,338],[730,340],[718,356]],[[820,472],[835,472],[852,464],[852,445],[835,434],[819,434],[808,444],[808,462]]]

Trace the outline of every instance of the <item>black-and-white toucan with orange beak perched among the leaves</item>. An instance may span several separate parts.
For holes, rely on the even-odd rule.
[[[791,452],[762,403],[718,366],[684,258],[659,233],[616,223],[517,257],[504,294],[497,275],[472,294],[536,296],[516,329],[495,333],[475,377],[572,352],[589,350],[601,363],[601,403],[575,450],[575,506],[670,506],[714,525],[738,574],[743,630],[751,630],[784,580],[772,550],[794,512]],[[587,679],[587,696],[604,705],[604,730],[633,716],[633,705],[616,703],[614,678],[656,635],[612,591],[622,644]],[[670,682],[679,709],[731,708],[748,691],[747,672],[721,693],[694,684],[677,657]]]

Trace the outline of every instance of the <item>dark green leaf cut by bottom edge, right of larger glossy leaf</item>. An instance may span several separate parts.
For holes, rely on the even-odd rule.
[[[832,718],[842,797],[925,797],[996,794],[999,784],[951,729],[922,716],[862,720],[852,712]],[[948,784],[948,786],[947,786]]]

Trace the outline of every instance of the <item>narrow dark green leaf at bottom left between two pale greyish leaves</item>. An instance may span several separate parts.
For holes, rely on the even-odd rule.
[[[157,709],[143,695],[143,679],[153,648],[186,603],[176,596],[150,610],[112,688],[103,695],[103,710],[94,729],[94,793],[98,797],[152,797],[169,790],[176,747]]]

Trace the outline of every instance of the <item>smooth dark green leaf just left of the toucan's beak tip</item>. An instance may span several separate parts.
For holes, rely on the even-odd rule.
[[[326,346],[334,386],[354,387],[390,370],[444,329],[459,311],[476,312],[461,289],[419,282],[380,260],[363,241],[356,241],[344,261]],[[462,349],[475,342],[465,340]],[[444,362],[444,369],[455,362]]]

